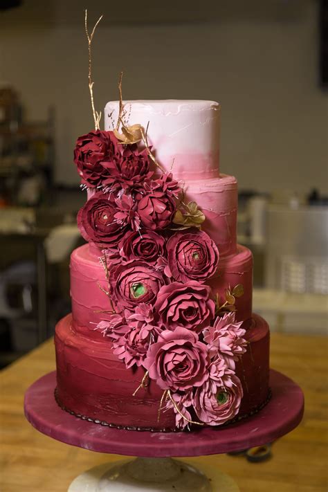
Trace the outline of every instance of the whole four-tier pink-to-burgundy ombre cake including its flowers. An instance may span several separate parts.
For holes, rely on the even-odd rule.
[[[75,147],[89,244],[56,327],[57,403],[140,430],[245,418],[269,397],[269,329],[252,314],[237,181],[219,172],[220,106],[109,102],[104,116]]]

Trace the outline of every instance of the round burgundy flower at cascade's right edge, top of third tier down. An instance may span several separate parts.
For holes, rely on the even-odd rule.
[[[206,282],[217,271],[219,251],[202,230],[179,232],[167,241],[167,259],[175,280]]]

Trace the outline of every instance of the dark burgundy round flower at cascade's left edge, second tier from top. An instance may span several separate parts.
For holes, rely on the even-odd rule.
[[[96,193],[78,212],[78,228],[84,239],[100,248],[116,248],[127,232],[127,226],[116,221],[116,212],[112,195]]]

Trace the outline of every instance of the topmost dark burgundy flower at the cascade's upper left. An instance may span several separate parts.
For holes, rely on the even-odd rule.
[[[102,186],[110,172],[104,167],[104,161],[107,165],[121,161],[120,146],[113,131],[95,130],[78,138],[74,162],[84,185],[90,188]]]

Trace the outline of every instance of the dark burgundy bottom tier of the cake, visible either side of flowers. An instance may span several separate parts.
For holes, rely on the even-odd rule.
[[[236,369],[244,390],[240,416],[260,408],[268,398],[269,329],[266,321],[254,314],[246,338],[248,349]],[[175,428],[173,410],[161,412],[158,421],[163,390],[150,381],[147,388],[141,388],[133,396],[145,371],[127,370],[113,354],[108,339],[91,340],[74,331],[71,315],[57,324],[55,349],[56,394],[64,408],[115,426]]]

